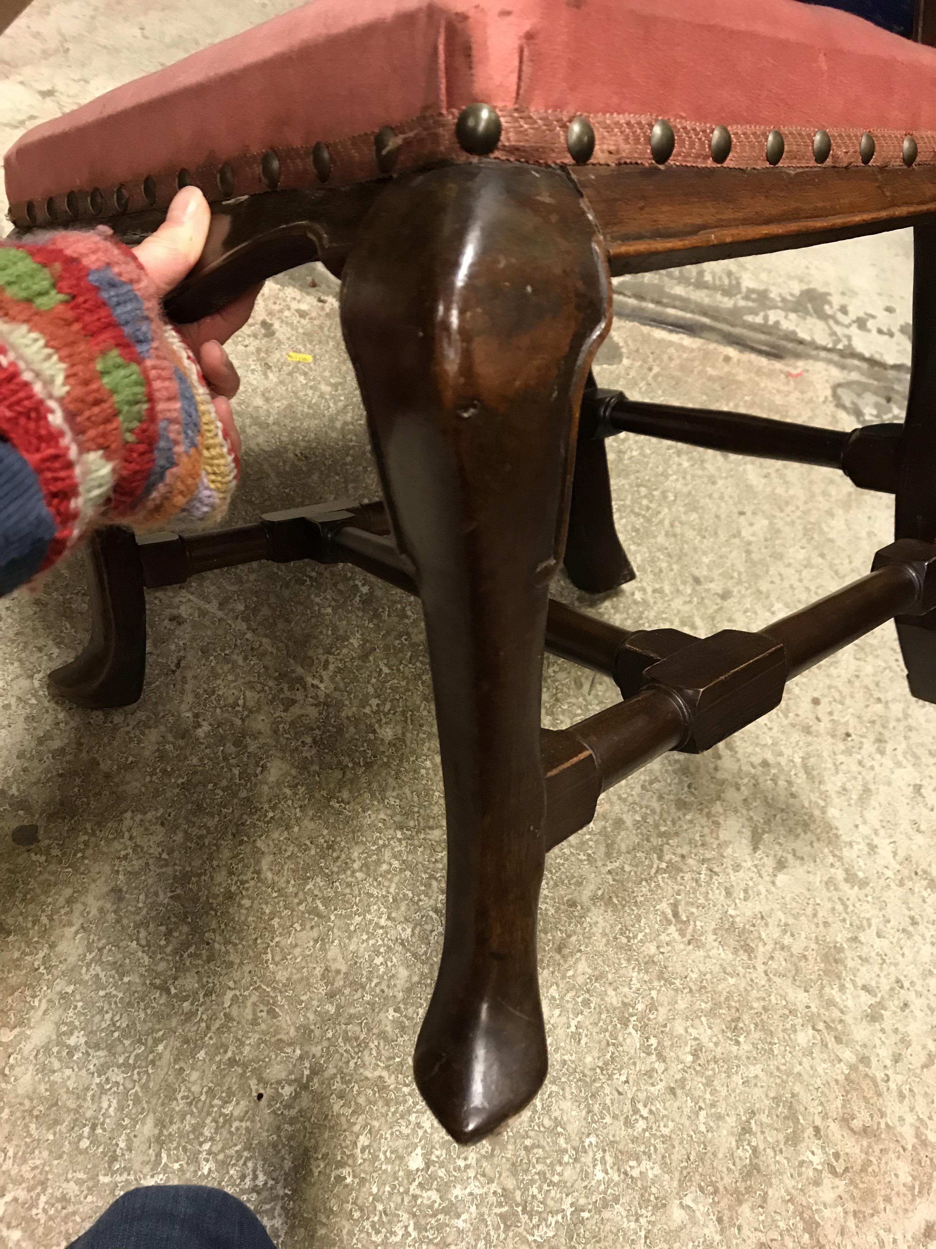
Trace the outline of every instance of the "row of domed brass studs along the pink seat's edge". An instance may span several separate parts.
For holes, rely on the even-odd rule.
[[[462,109],[456,121],[456,139],[459,146],[472,156],[489,156],[500,142],[500,117],[497,109],[489,104],[469,104]],[[577,116],[569,122],[565,131],[565,145],[569,155],[577,165],[587,165],[595,150],[595,132],[588,117]],[[650,155],[658,165],[665,165],[676,146],[676,136],[673,126],[665,119],[660,119],[650,130]],[[779,165],[784,159],[784,136],[779,130],[771,130],[768,135],[765,156],[769,165]],[[374,159],[381,174],[392,174],[399,159],[401,140],[392,126],[381,126],[374,136]],[[731,155],[731,131],[728,126],[715,126],[711,131],[711,159],[716,165],[724,165]],[[832,141],[829,131],[817,130],[812,140],[812,156],[817,165],[824,165],[832,151]],[[870,131],[861,136],[859,154],[862,165],[870,165],[875,154],[875,139]],[[917,145],[912,135],[904,140],[904,164],[909,167],[917,157]],[[317,142],[310,154],[310,161],[319,182],[327,182],[332,176],[332,154],[328,145]],[[260,171],[267,190],[275,191],[280,185],[280,157],[271,147],[265,151],[260,161]],[[195,182],[195,177],[187,169],[180,169],[176,176],[176,186],[181,190]],[[230,200],[236,191],[236,177],[233,166],[227,161],[217,171],[217,185],[225,199]],[[156,206],[156,180],[147,176],[142,182],[144,199],[150,207]],[[104,212],[104,195],[95,187],[87,196],[89,209],[95,217]],[[119,186],[114,192],[114,206],[117,212],[126,212],[130,205],[130,195],[126,186]],[[75,220],[80,216],[80,204],[77,191],[69,191],[65,196],[65,207],[69,216]],[[55,199],[50,197],[45,204],[46,216],[50,221],[57,221],[59,211]],[[36,225],[39,217],[34,200],[26,205],[26,216],[31,225]]]

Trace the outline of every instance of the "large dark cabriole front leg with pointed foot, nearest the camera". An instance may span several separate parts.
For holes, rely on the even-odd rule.
[[[413,1067],[470,1142],[547,1073],[543,646],[610,281],[572,184],[507,162],[397,181],[343,277],[344,340],[416,567],[446,788],[446,936]]]

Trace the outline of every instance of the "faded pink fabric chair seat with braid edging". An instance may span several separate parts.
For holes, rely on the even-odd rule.
[[[308,154],[329,145],[333,185],[378,176],[373,135],[397,130],[399,169],[464,157],[454,119],[494,105],[505,159],[569,161],[565,126],[587,115],[597,162],[649,161],[649,127],[674,124],[676,164],[711,161],[711,127],[731,129],[728,164],[764,165],[771,127],[785,165],[900,164],[912,134],[936,161],[936,51],[834,9],[796,0],[317,0],[101,96],[25,134],[5,160],[14,219],[25,201],[121,185],[131,211],[190,170],[220,199],[262,190],[275,149],[281,186],[314,184]],[[152,184],[151,184],[152,191]],[[228,192],[230,194],[230,192]],[[150,196],[152,200],[152,194]],[[74,204],[74,200],[72,200]],[[105,215],[114,212],[107,201]]]

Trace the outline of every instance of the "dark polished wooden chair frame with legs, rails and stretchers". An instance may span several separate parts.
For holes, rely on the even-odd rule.
[[[111,225],[136,241],[156,211]],[[636,403],[590,376],[613,274],[915,227],[902,425],[845,435]],[[343,189],[216,205],[167,301],[190,321],[318,259],[342,279],[344,340],[386,503],[89,547],[92,636],[51,676],[82,707],[144,684],[146,590],[258,560],[352,563],[423,605],[448,822],[446,934],[416,1044],[419,1090],[458,1142],[519,1112],[547,1074],[537,973],[545,856],[599,796],[666,751],[700,752],[776,707],[785,683],[896,618],[911,692],[936,702],[936,167],[557,169],[443,164]],[[519,362],[519,365],[518,365]],[[634,573],[614,531],[604,438],[655,435],[842,470],[894,493],[896,541],[854,585],[751,632],[628,632],[549,598]],[[544,648],[608,673],[622,701],[540,728]]]

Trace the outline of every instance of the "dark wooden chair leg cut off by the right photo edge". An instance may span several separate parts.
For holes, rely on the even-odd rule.
[[[914,230],[914,353],[896,497],[896,536],[936,540],[936,226]],[[936,612],[897,617],[915,698],[936,702]]]

